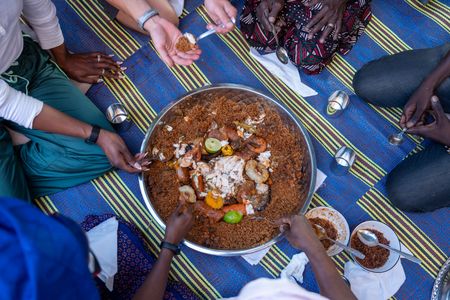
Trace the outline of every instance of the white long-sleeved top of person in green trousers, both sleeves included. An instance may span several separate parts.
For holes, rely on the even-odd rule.
[[[1,0],[0,5],[0,74],[8,70],[22,53],[21,14],[36,32],[43,49],[51,49],[64,42],[56,8],[50,0]],[[11,76],[2,77],[14,80]],[[14,90],[0,78],[1,118],[31,128],[42,106],[41,101]]]

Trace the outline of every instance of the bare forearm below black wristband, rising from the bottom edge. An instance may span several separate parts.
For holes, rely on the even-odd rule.
[[[172,251],[168,249],[161,250],[158,260],[145,279],[144,284],[137,291],[133,298],[134,300],[163,299],[172,258]]]

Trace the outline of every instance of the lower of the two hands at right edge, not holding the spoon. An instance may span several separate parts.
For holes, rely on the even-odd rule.
[[[409,128],[406,132],[450,146],[450,120],[447,118],[437,96],[431,97],[431,108],[430,113],[434,117],[433,123],[417,125]]]

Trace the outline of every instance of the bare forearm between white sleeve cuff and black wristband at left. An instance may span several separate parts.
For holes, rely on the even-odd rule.
[[[92,126],[72,118],[44,104],[42,111],[34,118],[33,128],[51,133],[87,139]]]

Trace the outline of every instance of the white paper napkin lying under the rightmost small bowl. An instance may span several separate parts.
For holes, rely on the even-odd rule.
[[[401,249],[411,254],[403,244]],[[349,261],[345,264],[344,276],[350,281],[352,292],[358,300],[389,299],[400,289],[406,279],[401,260],[385,273],[369,272]]]

